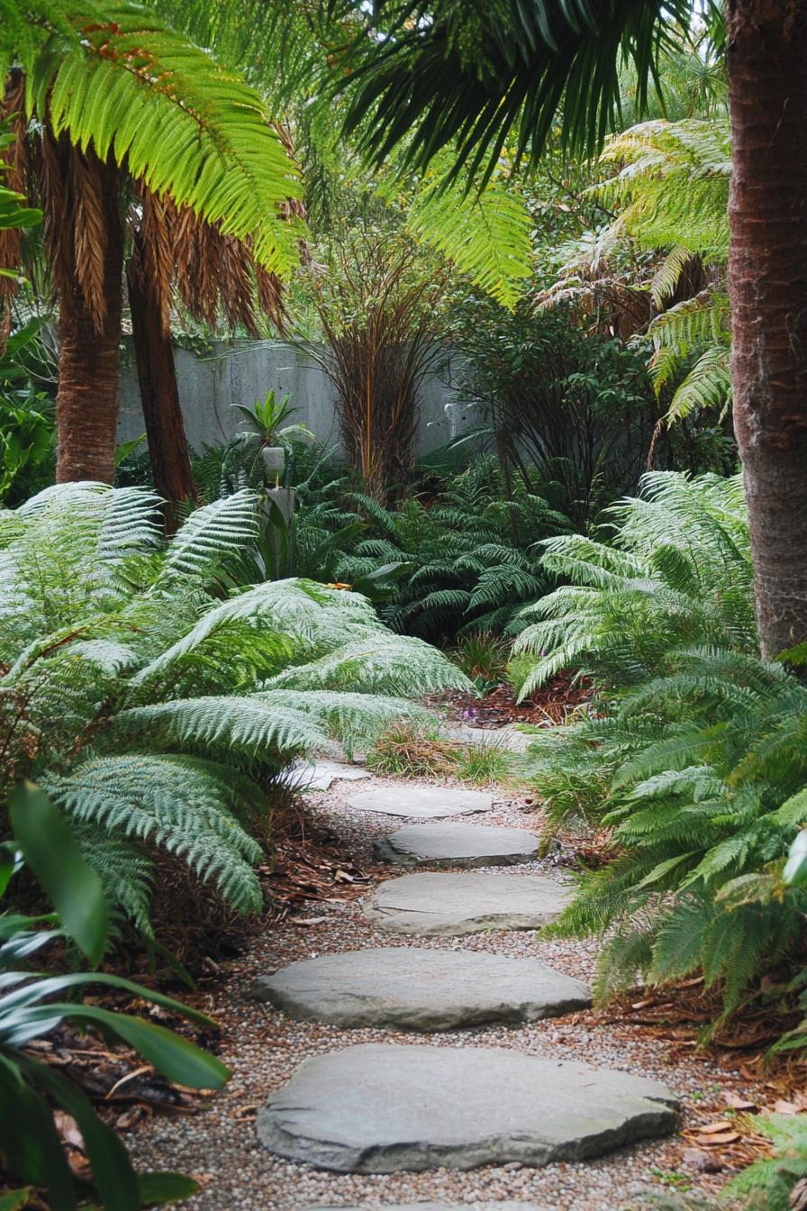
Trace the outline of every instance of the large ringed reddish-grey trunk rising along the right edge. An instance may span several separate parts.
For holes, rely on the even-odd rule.
[[[807,641],[807,0],[728,0],[734,431],[762,653]]]

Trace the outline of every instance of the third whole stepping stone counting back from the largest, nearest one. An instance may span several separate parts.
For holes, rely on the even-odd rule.
[[[394,934],[456,937],[489,929],[541,929],[571,891],[540,874],[404,874],[381,883],[364,916]]]

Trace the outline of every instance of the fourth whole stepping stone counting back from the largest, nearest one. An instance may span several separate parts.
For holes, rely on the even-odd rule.
[[[513,866],[537,856],[538,838],[495,825],[409,825],[377,840],[375,851],[396,866]]]

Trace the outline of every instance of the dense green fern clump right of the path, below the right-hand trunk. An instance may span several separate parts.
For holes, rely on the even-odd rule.
[[[807,899],[780,872],[807,819],[807,691],[756,655],[737,480],[655,475],[612,516],[612,546],[544,544],[571,584],[518,639],[524,693],[559,667],[599,682],[530,754],[552,823],[588,814],[616,846],[559,928],[604,936],[600,993],[703,971],[732,1010],[801,953]]]

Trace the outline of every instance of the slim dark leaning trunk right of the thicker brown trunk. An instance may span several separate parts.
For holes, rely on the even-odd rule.
[[[167,501],[166,527],[177,528],[174,505],[196,498],[188,440],[179,407],[171,334],[163,331],[160,300],[136,249],[127,274],[134,360],[149,443],[154,486]]]

